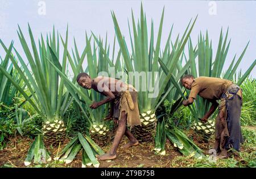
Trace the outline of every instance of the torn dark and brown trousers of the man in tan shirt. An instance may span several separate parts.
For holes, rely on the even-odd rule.
[[[242,90],[235,84],[230,85],[221,95],[216,118],[215,138],[218,141],[218,151],[230,148],[240,150],[240,143],[243,143],[240,125],[241,108]]]

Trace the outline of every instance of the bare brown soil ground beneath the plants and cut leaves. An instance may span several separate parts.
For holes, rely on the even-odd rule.
[[[254,130],[254,129],[253,129]],[[201,141],[195,132],[189,130],[186,132],[187,136],[193,139],[193,141],[201,149],[203,149],[206,154],[207,151],[212,148],[214,144],[214,137],[209,140],[209,143]],[[24,165],[24,160],[27,156],[27,151],[32,144],[32,139],[22,138],[17,136],[16,138],[10,139],[7,147],[0,151],[0,167],[4,165],[12,167],[26,167]],[[69,139],[66,139],[61,147],[47,147],[48,151],[51,153],[52,159],[57,155],[58,150],[61,151],[67,144]],[[127,139],[124,138],[119,145],[117,151],[117,159],[112,161],[99,161],[100,167],[171,167],[172,161],[177,159],[177,157],[182,156],[179,151],[169,142],[166,144],[166,155],[160,156],[155,155],[154,152],[154,142],[140,143],[137,146],[131,147],[127,150],[121,148],[122,145],[127,143]],[[105,152],[108,152],[111,147],[111,143],[102,147]],[[241,148],[241,152],[244,149]],[[43,165],[31,164],[28,167],[81,167],[81,151],[77,154],[76,158],[70,164],[60,163],[58,161],[52,160],[51,162]],[[90,167],[90,166],[89,166]]]

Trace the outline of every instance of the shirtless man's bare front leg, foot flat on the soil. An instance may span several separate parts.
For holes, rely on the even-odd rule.
[[[115,134],[112,147],[108,153],[98,156],[97,158],[99,160],[113,160],[117,157],[118,145],[120,144],[123,134],[125,134],[125,131],[126,131],[126,121],[127,121],[127,115],[125,114],[125,111],[122,111],[121,119],[118,122],[117,133]]]

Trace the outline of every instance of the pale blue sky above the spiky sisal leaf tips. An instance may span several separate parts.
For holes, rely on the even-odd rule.
[[[114,38],[114,25],[111,10],[117,16],[119,26],[123,35],[129,36],[127,18],[131,19],[131,9],[135,18],[139,17],[141,1],[82,1],[82,0],[51,0],[46,2],[46,14],[38,13],[40,1],[14,1],[0,0],[0,38],[5,44],[10,44],[14,40],[14,45],[18,51],[22,51],[16,30],[18,24],[28,39],[27,23],[30,23],[32,31],[37,38],[40,33],[46,35],[52,30],[53,24],[61,35],[65,35],[67,23],[69,25],[69,47],[73,45],[73,36],[77,45],[81,49],[85,45],[85,31],[93,31],[96,35],[105,36],[112,43]],[[243,57],[239,68],[242,72],[249,67],[256,59],[256,1],[214,1],[216,3],[216,15],[209,14],[209,9],[213,7],[210,1],[142,1],[146,12],[148,27],[151,18],[154,20],[155,35],[158,31],[160,15],[165,7],[162,39],[166,42],[172,23],[174,30],[172,39],[178,33],[183,33],[191,18],[198,19],[193,28],[191,38],[196,44],[197,35],[200,31],[205,34],[208,30],[209,38],[213,43],[213,54],[217,51],[218,38],[221,27],[224,31],[229,27],[229,38],[231,44],[227,56],[227,63],[224,69],[237,53],[239,56],[245,45],[250,40],[249,47]],[[0,55],[4,53],[0,49]],[[256,76],[254,68],[251,76]]]

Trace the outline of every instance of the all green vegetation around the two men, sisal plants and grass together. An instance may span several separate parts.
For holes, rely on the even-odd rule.
[[[79,166],[98,167],[100,163],[96,155],[108,149],[114,123],[104,120],[109,112],[109,104],[96,110],[90,109],[93,101],[101,101],[104,95],[81,88],[76,82],[76,76],[86,72],[94,78],[104,71],[105,76],[111,77],[114,67],[114,74],[146,72],[146,82],[142,84],[139,81],[137,89],[142,126],[134,127],[132,132],[139,141],[144,141],[134,149],[147,146],[141,152],[146,151],[145,156],[149,153],[151,156],[147,156],[148,159],[158,157],[160,162],[171,155],[171,163],[164,165],[171,167],[255,167],[256,86],[255,79],[249,76],[256,60],[244,74],[237,72],[249,43],[238,58],[234,56],[228,69],[222,73],[230,48],[228,31],[224,35],[221,30],[217,51],[213,55],[214,41],[209,39],[208,32],[206,35],[200,33],[197,43],[192,43],[190,35],[197,16],[189,21],[183,34],[177,35],[175,40],[172,39],[173,26],[168,39],[162,39],[164,9],[156,34],[153,20],[150,29],[147,28],[142,6],[138,21],[131,12],[129,37],[123,36],[114,12],[112,18],[114,44],[108,44],[108,36],[103,40],[93,32],[91,35],[86,33],[82,52],[79,52],[75,38],[73,48],[68,46],[68,28],[65,37],[56,33],[53,27],[51,34],[35,39],[28,25],[29,39],[26,39],[18,27],[22,52],[17,51],[13,41],[6,46],[0,40],[4,51],[0,56],[0,152],[13,152],[24,141],[24,146],[19,147],[26,151],[18,155],[20,157],[17,159],[23,160],[22,166],[69,167],[79,160]],[[165,44],[161,49],[163,41]],[[185,51],[186,47],[188,51]],[[72,72],[68,69],[72,69]],[[241,152],[230,151],[229,159],[216,162],[210,160],[210,155],[205,151],[210,149],[214,140],[214,118],[217,111],[207,124],[202,124],[198,120],[209,110],[210,102],[197,98],[194,105],[182,106],[182,101],[189,94],[179,81],[183,74],[221,77],[241,86],[241,124],[245,139]],[[125,82],[135,88],[137,81],[125,78]],[[146,86],[146,90],[142,89],[142,85]],[[152,93],[155,90],[159,92],[157,95]],[[207,133],[206,142],[197,138],[200,132]],[[138,155],[144,153],[136,153],[136,157],[141,159]],[[15,167],[6,157],[3,160],[3,167]]]

